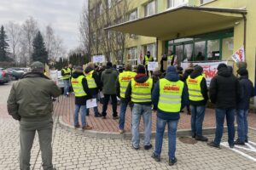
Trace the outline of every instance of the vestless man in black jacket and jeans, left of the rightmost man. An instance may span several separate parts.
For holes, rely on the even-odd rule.
[[[218,65],[218,74],[210,82],[210,99],[215,104],[216,130],[214,141],[208,143],[212,147],[219,148],[223,135],[224,117],[227,119],[228,142],[230,148],[234,147],[235,138],[235,112],[239,97],[239,82],[225,64]]]

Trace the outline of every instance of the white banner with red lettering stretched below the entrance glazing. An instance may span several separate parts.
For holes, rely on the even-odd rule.
[[[217,75],[217,68],[218,65],[224,63],[227,65],[227,61],[220,61],[220,62],[209,62],[209,63],[194,63],[194,65],[201,65],[201,67],[204,70],[204,77],[207,80],[207,87],[210,86],[210,82],[212,80],[213,77],[215,77],[215,75]],[[181,66],[183,67],[183,70],[185,70],[186,68],[188,68],[189,63],[181,63]]]

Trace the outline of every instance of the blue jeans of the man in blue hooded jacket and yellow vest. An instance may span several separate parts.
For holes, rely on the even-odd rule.
[[[177,121],[166,121],[159,117],[156,120],[156,134],[155,134],[155,149],[154,155],[160,156],[163,144],[163,136],[166,129],[166,124],[168,126],[168,156],[169,159],[175,157],[176,150],[176,132],[177,132]]]

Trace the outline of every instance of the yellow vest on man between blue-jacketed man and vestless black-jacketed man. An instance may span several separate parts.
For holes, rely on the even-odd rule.
[[[199,76],[196,78],[191,78],[190,76],[187,79],[187,84],[189,88],[189,99],[192,101],[201,101],[203,100],[203,96],[201,94],[201,81],[203,76]]]

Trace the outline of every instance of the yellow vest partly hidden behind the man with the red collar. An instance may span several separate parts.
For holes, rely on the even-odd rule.
[[[120,84],[120,97],[125,98],[126,88],[132,78],[136,76],[135,72],[125,71],[119,74],[119,84]]]

